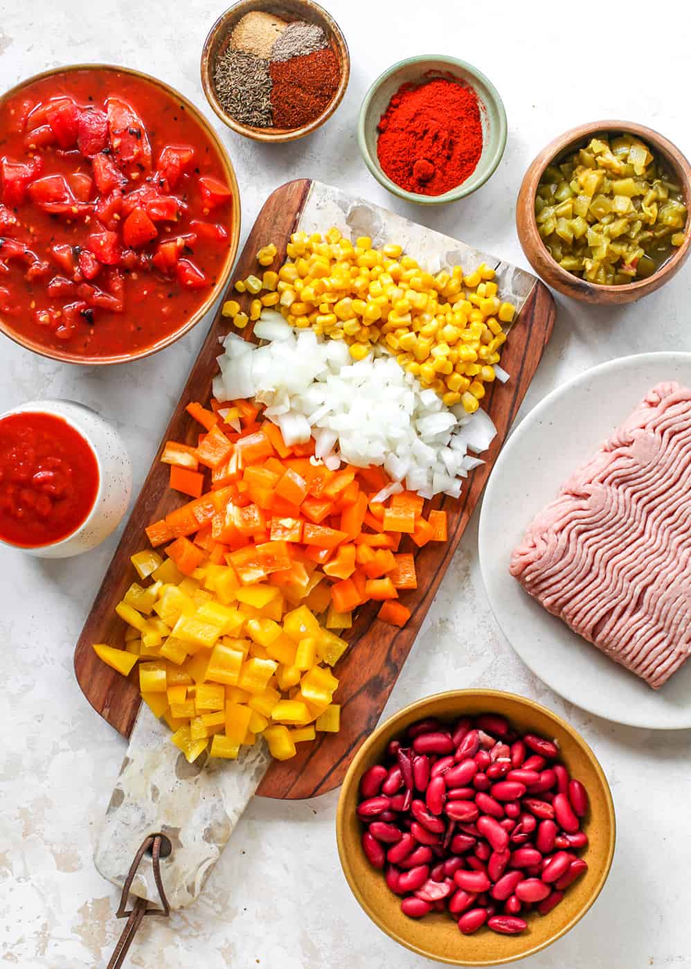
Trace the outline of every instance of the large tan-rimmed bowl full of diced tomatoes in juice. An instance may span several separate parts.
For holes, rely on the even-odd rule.
[[[0,329],[71,363],[149,356],[195,326],[233,266],[230,158],[168,84],[75,65],[0,98]]]

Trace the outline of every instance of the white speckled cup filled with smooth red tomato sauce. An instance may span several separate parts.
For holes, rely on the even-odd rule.
[[[70,400],[0,415],[0,542],[42,558],[100,545],[122,520],[132,464],[119,434]]]

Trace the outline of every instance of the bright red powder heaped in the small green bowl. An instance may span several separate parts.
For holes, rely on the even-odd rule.
[[[418,195],[443,195],[460,185],[483,153],[480,104],[472,87],[459,80],[402,84],[378,130],[382,169]]]

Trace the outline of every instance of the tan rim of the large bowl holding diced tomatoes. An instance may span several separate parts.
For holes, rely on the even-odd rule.
[[[21,333],[17,333],[12,328],[8,326],[6,321],[3,319],[2,314],[0,314],[0,331],[2,331],[5,336],[8,336],[13,340],[18,346],[22,347],[24,350],[29,350],[41,357],[46,357],[47,359],[57,360],[60,363],[76,363],[81,366],[110,366],[115,363],[129,363],[132,360],[144,359],[145,357],[152,357],[157,354],[160,350],[165,350],[166,347],[170,347],[173,343],[183,337],[192,328],[196,327],[197,324],[202,320],[205,314],[211,309],[216,299],[223,293],[226,283],[230,278],[233,266],[236,260],[237,246],[239,244],[240,236],[240,193],[239,187],[237,185],[236,172],[233,167],[233,162],[231,161],[228,150],[226,149],[223,141],[220,140],[213,127],[209,123],[208,119],[204,117],[201,109],[199,109],[189,98],[181,94],[172,84],[169,84],[165,80],[160,80],[159,78],[154,78],[150,74],[146,74],[144,71],[139,71],[136,68],[124,67],[121,64],[108,64],[108,63],[83,63],[83,64],[67,64],[62,67],[48,68],[46,71],[41,71],[38,74],[31,75],[29,78],[24,78],[18,83],[14,84],[7,91],[4,91],[0,95],[0,104],[3,104],[8,98],[13,95],[18,94],[24,87],[28,84],[33,83],[36,80],[43,80],[43,78],[50,78],[55,75],[72,73],[74,71],[94,71],[94,70],[104,70],[104,71],[119,71],[122,74],[132,75],[135,78],[142,78],[153,84],[155,87],[163,89],[168,95],[175,99],[179,99],[180,102],[185,106],[185,110],[190,112],[195,118],[200,127],[204,130],[205,134],[208,136],[212,144],[215,146],[218,156],[221,160],[221,164],[228,178],[228,183],[233,196],[233,213],[231,218],[230,226],[230,239],[228,244],[228,250],[226,255],[226,261],[223,268],[219,272],[216,282],[209,293],[209,295],[204,299],[204,302],[198,307],[197,310],[190,316],[186,323],[180,328],[169,333],[168,336],[156,343],[151,344],[148,347],[144,347],[141,350],[133,351],[131,353],[122,354],[111,354],[109,357],[101,356],[83,356],[79,354],[69,353],[69,351],[61,350],[59,348],[46,347],[36,340],[32,340],[29,337],[22,336]]]

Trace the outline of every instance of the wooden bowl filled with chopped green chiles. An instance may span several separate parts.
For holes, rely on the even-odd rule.
[[[550,141],[518,192],[523,252],[565,296],[634,302],[689,256],[691,166],[675,145],[629,121],[583,124]]]

